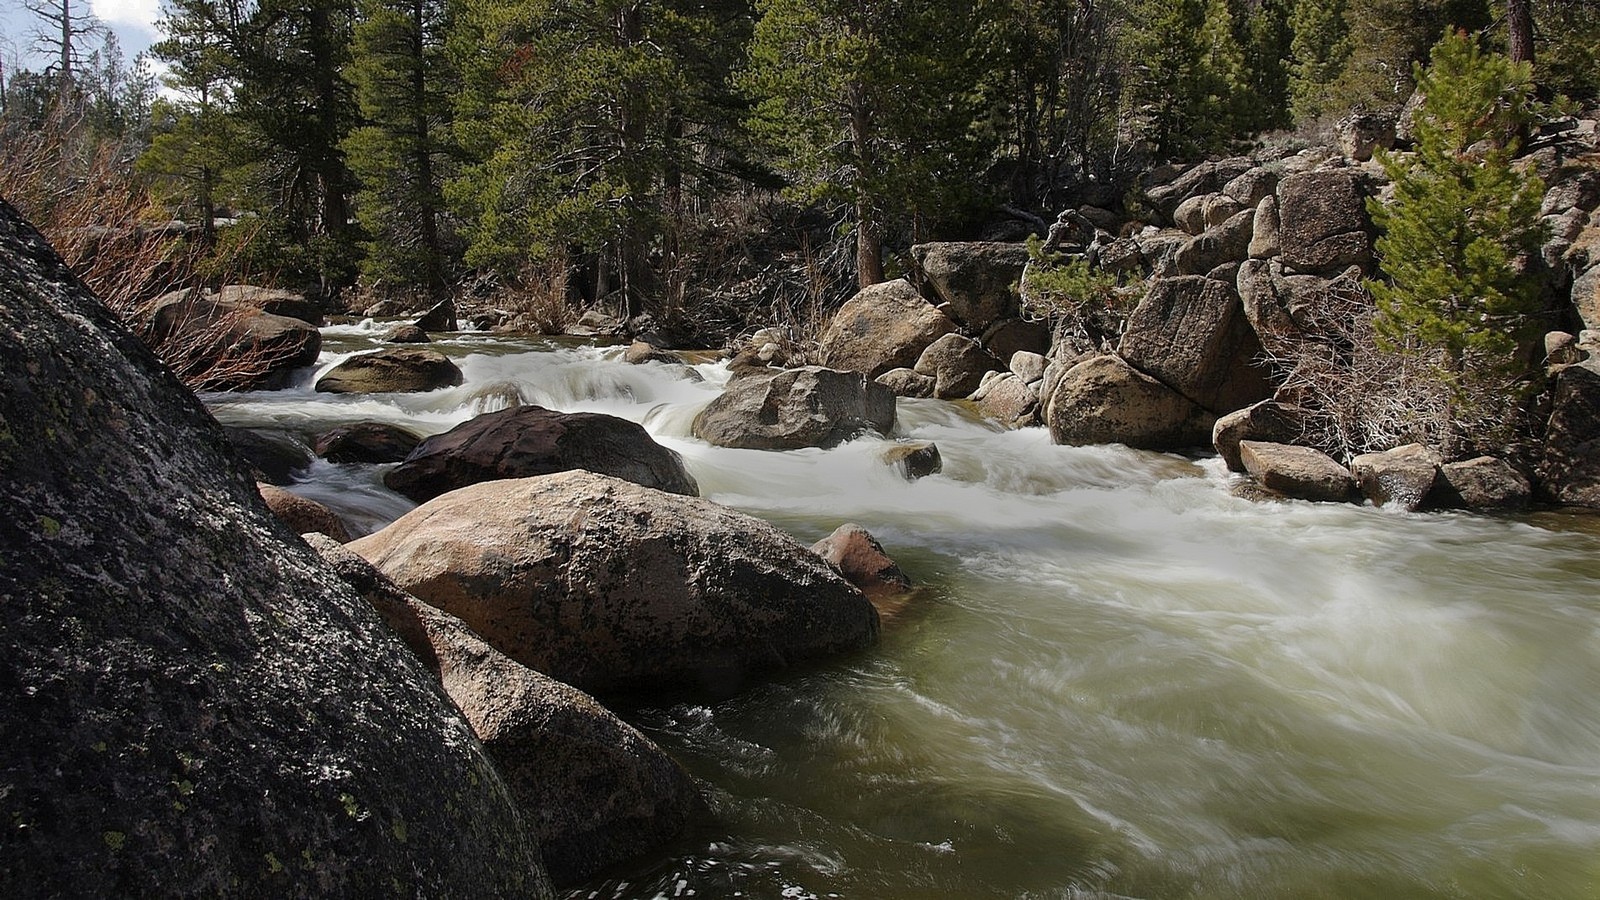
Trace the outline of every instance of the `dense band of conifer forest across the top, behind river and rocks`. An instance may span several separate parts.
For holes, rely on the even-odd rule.
[[[133,61],[86,0],[24,2],[0,194],[128,307],[248,280],[816,325],[915,242],[1330,143],[1451,29],[1600,96],[1600,0],[166,0]]]

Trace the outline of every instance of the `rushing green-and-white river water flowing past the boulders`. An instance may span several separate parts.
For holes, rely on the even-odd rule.
[[[373,346],[331,327],[323,367]],[[461,336],[421,396],[210,396],[224,424],[445,431],[510,402],[643,423],[704,496],[866,525],[922,585],[869,653],[627,709],[717,823],[571,897],[1600,898],[1600,538],[1582,520],[1229,495],[1216,460],[1066,448],[901,400],[891,439],[723,450],[715,365]],[[370,532],[379,466],[291,487]]]

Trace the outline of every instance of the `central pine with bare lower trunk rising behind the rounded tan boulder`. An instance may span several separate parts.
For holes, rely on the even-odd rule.
[[[938,221],[976,184],[968,3],[762,0],[741,83],[790,191],[851,210],[862,287],[891,229]]]

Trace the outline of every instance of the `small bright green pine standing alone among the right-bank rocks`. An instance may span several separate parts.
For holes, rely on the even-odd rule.
[[[1531,69],[1454,32],[1416,78],[1427,98],[1416,155],[1381,157],[1395,195],[1370,203],[1389,279],[1370,285],[1376,327],[1398,349],[1440,352],[1461,386],[1515,376],[1541,303],[1539,280],[1517,263],[1544,240],[1544,184],[1512,165],[1533,115]]]

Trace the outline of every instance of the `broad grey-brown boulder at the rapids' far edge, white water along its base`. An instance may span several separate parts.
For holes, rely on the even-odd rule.
[[[819,365],[738,378],[694,416],[694,437],[744,450],[834,447],[894,428],[894,391]]]

